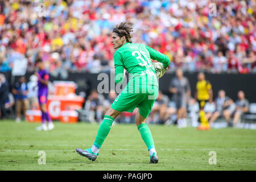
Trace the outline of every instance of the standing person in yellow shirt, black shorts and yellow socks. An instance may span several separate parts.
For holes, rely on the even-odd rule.
[[[200,72],[197,75],[199,81],[196,84],[195,99],[199,102],[199,120],[200,126],[197,127],[198,130],[209,130],[210,125],[207,118],[205,117],[204,106],[207,102],[211,103],[213,99],[212,85],[208,80],[205,80],[204,73]]]

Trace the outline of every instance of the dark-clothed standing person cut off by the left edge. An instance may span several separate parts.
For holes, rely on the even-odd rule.
[[[9,84],[5,75],[0,74],[0,119],[6,119],[5,104],[8,100]]]

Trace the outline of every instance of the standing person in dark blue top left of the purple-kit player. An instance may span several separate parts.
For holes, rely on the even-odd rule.
[[[13,94],[16,101],[16,122],[20,122],[21,112],[26,114],[28,109],[28,99],[27,99],[27,83],[24,76],[19,78],[19,81],[16,82],[15,87],[13,88]]]

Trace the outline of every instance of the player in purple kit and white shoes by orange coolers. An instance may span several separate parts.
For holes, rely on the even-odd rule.
[[[49,75],[46,69],[44,69],[44,64],[41,59],[36,60],[36,67],[39,69],[39,71],[35,73],[35,76],[38,77],[38,103],[42,111],[42,125],[36,127],[36,130],[52,130],[54,125],[46,109]],[[48,122],[48,127],[46,126],[46,121]]]

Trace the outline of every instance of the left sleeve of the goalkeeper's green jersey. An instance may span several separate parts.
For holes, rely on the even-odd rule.
[[[123,61],[122,55],[118,51],[114,53],[114,65],[115,65],[115,82],[122,83],[123,82]]]

